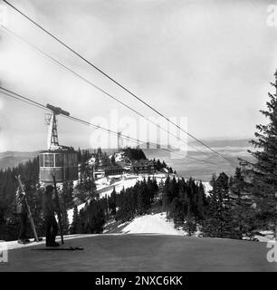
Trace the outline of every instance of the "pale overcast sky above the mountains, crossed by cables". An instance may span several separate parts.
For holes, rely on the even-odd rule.
[[[10,2],[197,138],[252,138],[277,68],[272,1],[21,0]],[[2,2],[1,2],[1,5]],[[155,113],[7,7],[7,28],[146,116]],[[91,121],[134,113],[0,32],[0,82]],[[136,119],[135,119],[136,120]],[[112,121],[111,121],[112,122]],[[92,129],[59,119],[61,143],[88,148]],[[44,111],[0,93],[0,151],[46,148]]]

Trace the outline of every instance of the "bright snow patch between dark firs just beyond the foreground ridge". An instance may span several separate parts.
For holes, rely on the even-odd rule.
[[[120,225],[121,226],[121,225]],[[125,234],[163,234],[185,236],[184,230],[174,228],[173,221],[168,222],[166,213],[145,215],[135,218],[122,229]]]

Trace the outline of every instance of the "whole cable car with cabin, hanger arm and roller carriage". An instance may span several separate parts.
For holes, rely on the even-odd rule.
[[[53,183],[53,176],[56,182],[64,182],[78,179],[77,152],[71,147],[59,145],[57,118],[59,114],[69,116],[68,111],[47,104],[52,111],[47,115],[45,121],[49,125],[48,150],[39,154],[40,181],[46,184]]]

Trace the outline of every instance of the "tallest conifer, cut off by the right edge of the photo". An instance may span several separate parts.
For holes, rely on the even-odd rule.
[[[255,140],[251,143],[258,150],[250,151],[255,160],[248,164],[252,167],[256,218],[261,227],[273,229],[277,239],[277,71],[274,75],[272,87],[275,92],[268,93],[267,110],[261,111],[268,123],[256,125]]]

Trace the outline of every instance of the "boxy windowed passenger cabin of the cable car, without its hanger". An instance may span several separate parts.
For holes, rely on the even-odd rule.
[[[78,179],[77,152],[74,150],[48,150],[40,153],[40,180],[43,183]]]

